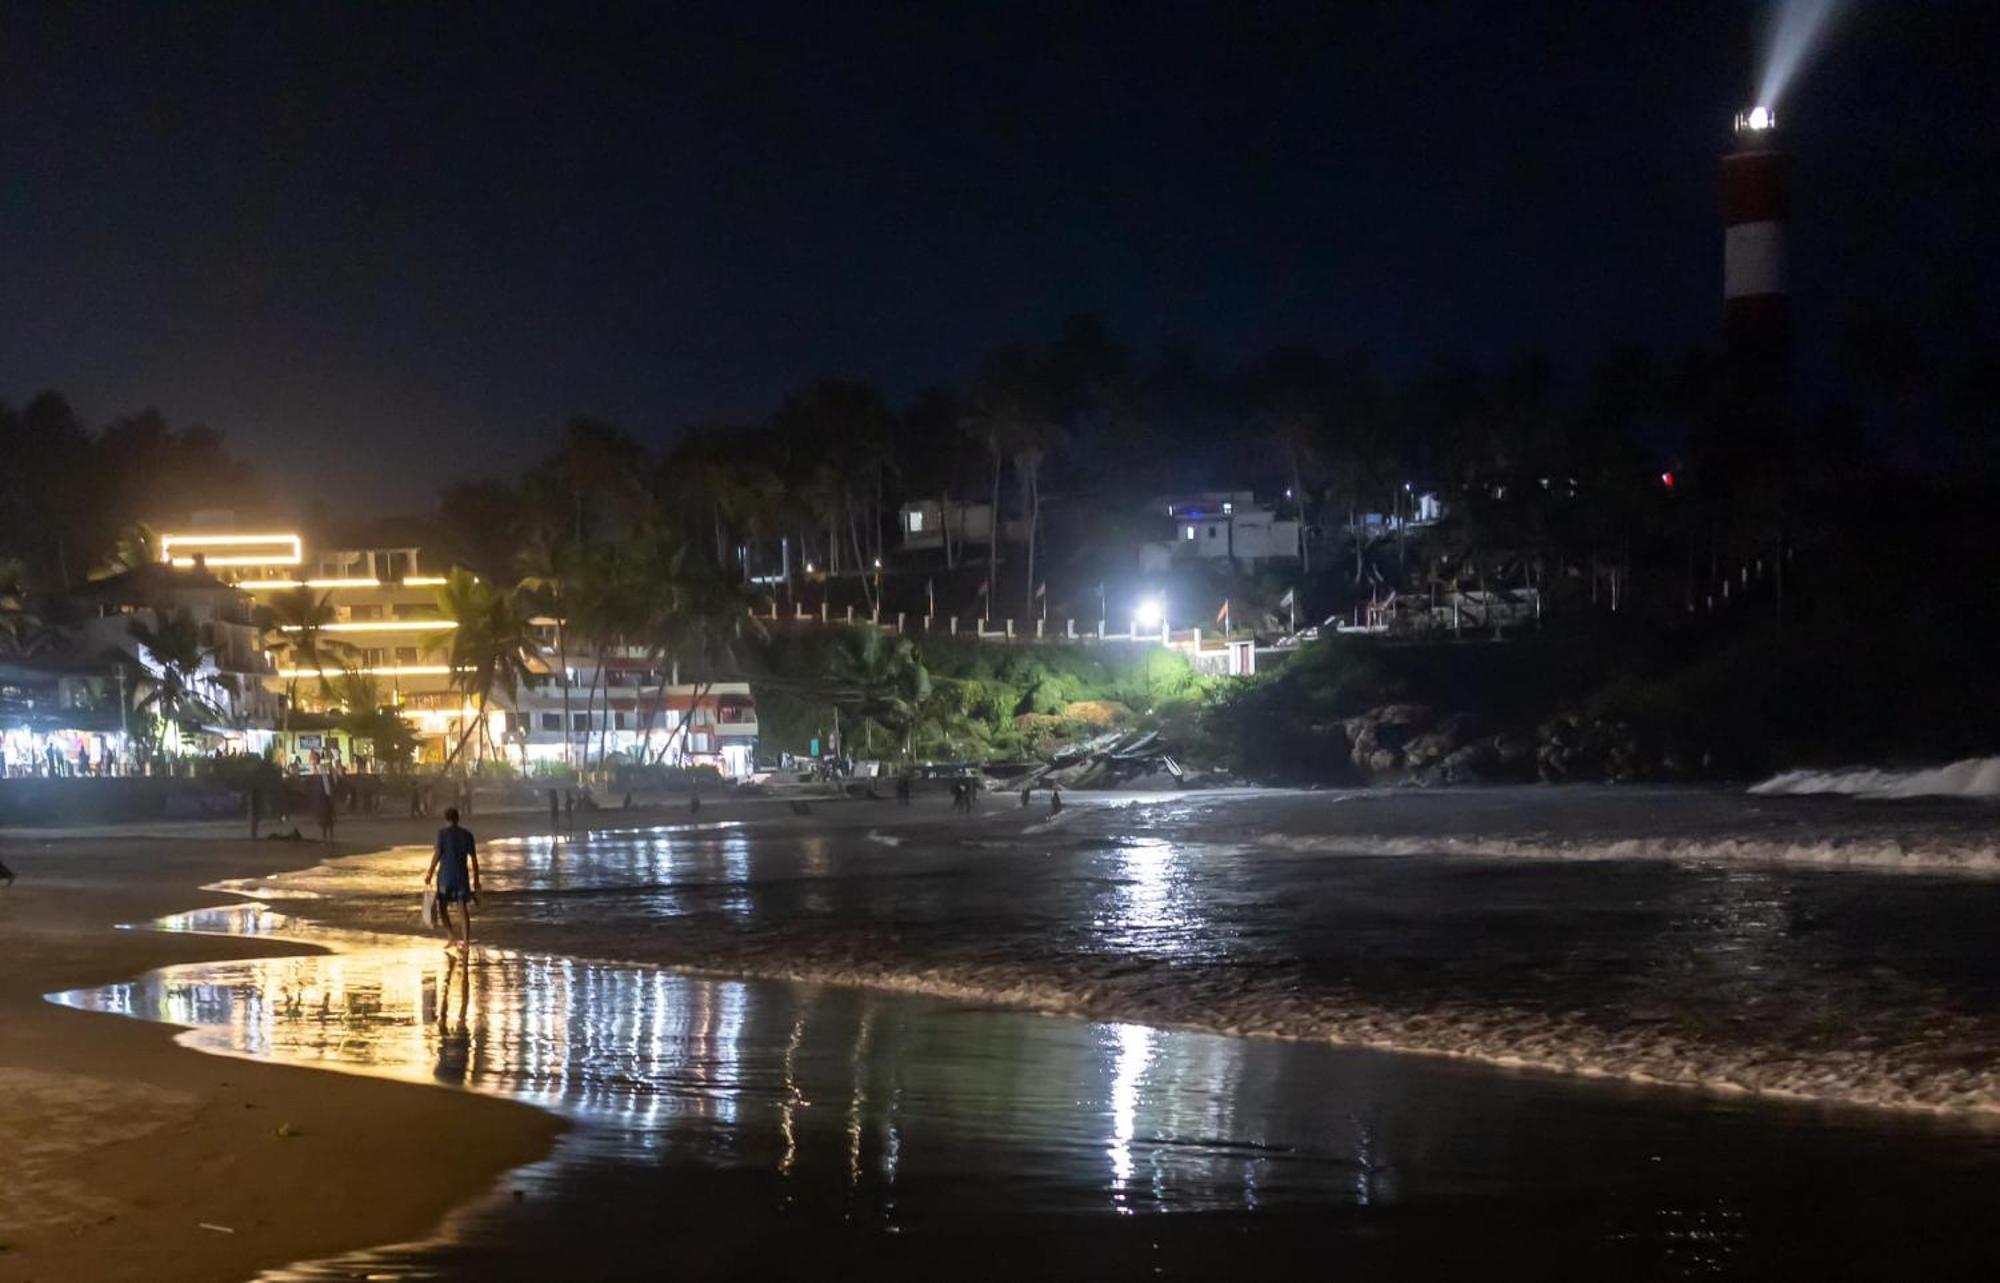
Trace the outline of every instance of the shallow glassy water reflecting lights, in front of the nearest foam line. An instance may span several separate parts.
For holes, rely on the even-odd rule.
[[[1990,1137],[1432,1059],[308,927],[56,995],[578,1123],[438,1239],[272,1279],[1962,1273]],[[1512,1273],[1512,1271],[1510,1271]]]

